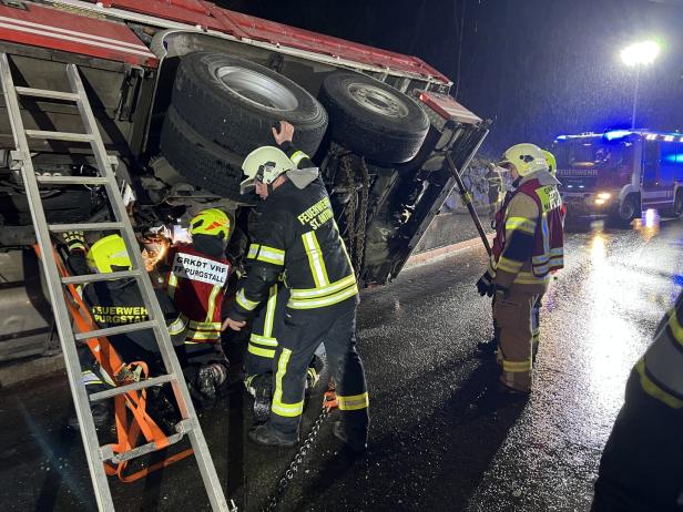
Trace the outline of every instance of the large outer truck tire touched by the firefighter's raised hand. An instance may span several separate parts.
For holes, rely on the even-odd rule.
[[[198,135],[242,156],[273,145],[271,126],[288,121],[294,144],[314,155],[327,130],[327,113],[307,91],[263,65],[225,53],[181,59],[172,104]]]

